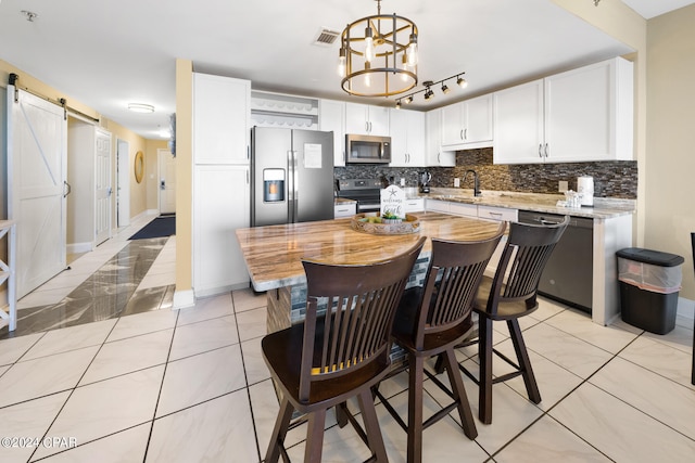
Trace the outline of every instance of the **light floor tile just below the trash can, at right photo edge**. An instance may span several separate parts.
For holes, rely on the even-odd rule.
[[[691,384],[691,353],[657,343],[650,337],[640,336],[619,357],[695,389],[695,385]]]

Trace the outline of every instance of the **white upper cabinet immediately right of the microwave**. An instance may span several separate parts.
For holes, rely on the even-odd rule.
[[[425,113],[391,110],[391,167],[425,166]]]

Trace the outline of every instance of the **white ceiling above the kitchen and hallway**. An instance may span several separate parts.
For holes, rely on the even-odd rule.
[[[587,1],[593,0],[577,0]],[[623,0],[644,15],[678,0]],[[383,0],[419,29],[419,80],[465,72],[469,86],[414,108],[462,100],[632,51],[551,0]],[[597,8],[601,8],[598,4]],[[27,21],[21,11],[37,16]],[[176,59],[194,70],[250,79],[253,89],[393,105],[340,89],[338,48],[313,44],[323,27],[376,13],[372,0],[0,0],[0,59],[147,139],[175,107]],[[22,76],[20,75],[20,87]],[[147,103],[152,114],[127,110]]]

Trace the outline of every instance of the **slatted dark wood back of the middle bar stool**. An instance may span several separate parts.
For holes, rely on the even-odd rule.
[[[485,267],[507,229],[483,241],[432,240],[432,258],[425,281],[422,303],[416,316],[415,348],[424,348],[427,335],[457,326],[471,312]]]

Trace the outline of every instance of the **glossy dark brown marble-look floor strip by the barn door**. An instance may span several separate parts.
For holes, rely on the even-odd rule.
[[[0,339],[170,308],[174,285],[136,291],[168,239],[129,241],[60,303],[18,310],[17,329],[2,327]]]

